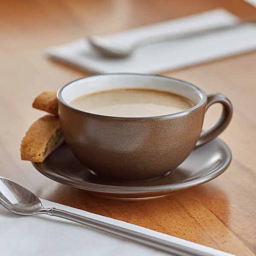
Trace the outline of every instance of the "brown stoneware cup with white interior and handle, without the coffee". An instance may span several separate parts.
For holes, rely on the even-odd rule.
[[[78,96],[116,88],[148,88],[185,96],[195,106],[179,113],[152,117],[102,116],[69,103]],[[87,76],[58,90],[58,115],[65,141],[93,174],[118,180],[147,180],[166,175],[229,124],[232,105],[222,94],[178,79],[133,73]],[[210,105],[221,103],[218,122],[202,131]],[[72,168],[72,166],[70,167]]]

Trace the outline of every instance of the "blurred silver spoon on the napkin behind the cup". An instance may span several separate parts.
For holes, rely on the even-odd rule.
[[[90,45],[96,49],[97,52],[101,53],[102,55],[105,55],[106,57],[115,57],[115,58],[123,58],[128,57],[131,55],[135,49],[142,45],[151,44],[155,42],[160,41],[167,41],[167,40],[175,40],[175,39],[181,39],[181,38],[188,38],[193,37],[197,35],[203,35],[209,32],[214,31],[220,31],[224,29],[231,29],[235,26],[238,26],[240,24],[249,23],[249,22],[255,22],[256,17],[246,17],[241,18],[237,20],[234,23],[231,24],[220,24],[220,25],[214,25],[212,24],[212,27],[207,28],[192,28],[187,29],[185,32],[169,32],[166,31],[166,29],[159,29],[154,30],[154,35],[152,35],[152,32],[148,30],[141,32],[141,35],[130,38],[130,41],[125,40],[125,42],[119,43],[117,39],[109,39],[104,36],[96,36],[92,35],[87,38]],[[127,39],[127,38],[126,38]]]

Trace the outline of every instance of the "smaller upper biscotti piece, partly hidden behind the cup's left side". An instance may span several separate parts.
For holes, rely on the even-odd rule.
[[[49,113],[52,113],[56,116],[58,116],[58,106],[57,106],[57,92],[46,90],[39,94],[33,104],[33,108],[37,108],[43,111],[47,111]]]

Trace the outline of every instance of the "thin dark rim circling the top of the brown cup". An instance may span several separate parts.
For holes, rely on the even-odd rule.
[[[181,112],[177,112],[177,113],[172,113],[172,114],[167,114],[167,115],[161,115],[161,116],[125,117],[125,116],[105,116],[105,115],[94,114],[94,113],[82,111],[82,110],[79,110],[79,109],[74,108],[73,106],[71,106],[69,103],[64,101],[64,99],[61,96],[61,93],[64,90],[64,88],[69,86],[72,83],[75,83],[76,81],[84,80],[84,79],[87,79],[87,78],[93,77],[93,76],[115,76],[115,75],[118,75],[118,76],[120,76],[120,75],[153,76],[153,77],[160,77],[162,79],[169,79],[169,80],[172,80],[172,81],[181,82],[181,83],[186,84],[186,85],[188,85],[190,87],[194,87],[195,89],[199,90],[202,93],[203,97],[202,97],[201,101],[198,104],[196,104],[192,108],[186,109],[185,111],[181,111]],[[122,88],[122,87],[120,87],[120,88]],[[186,114],[190,113],[191,111],[194,111],[197,108],[200,108],[207,101],[207,95],[204,92],[204,90],[202,90],[201,88],[197,87],[196,85],[191,84],[191,83],[189,83],[187,81],[184,81],[184,80],[181,80],[181,79],[177,79],[177,78],[173,78],[173,77],[169,77],[169,76],[155,75],[155,74],[143,74],[143,73],[102,73],[102,74],[94,74],[94,75],[90,75],[90,76],[85,76],[85,77],[73,80],[73,81],[69,82],[68,84],[63,85],[57,91],[57,99],[58,99],[58,101],[62,105],[66,106],[67,108],[70,108],[73,111],[77,111],[79,113],[85,113],[85,114],[88,114],[88,115],[91,115],[91,116],[98,116],[98,117],[111,118],[111,119],[160,119],[160,118],[167,118],[167,117],[183,116],[183,115],[186,115]]]

